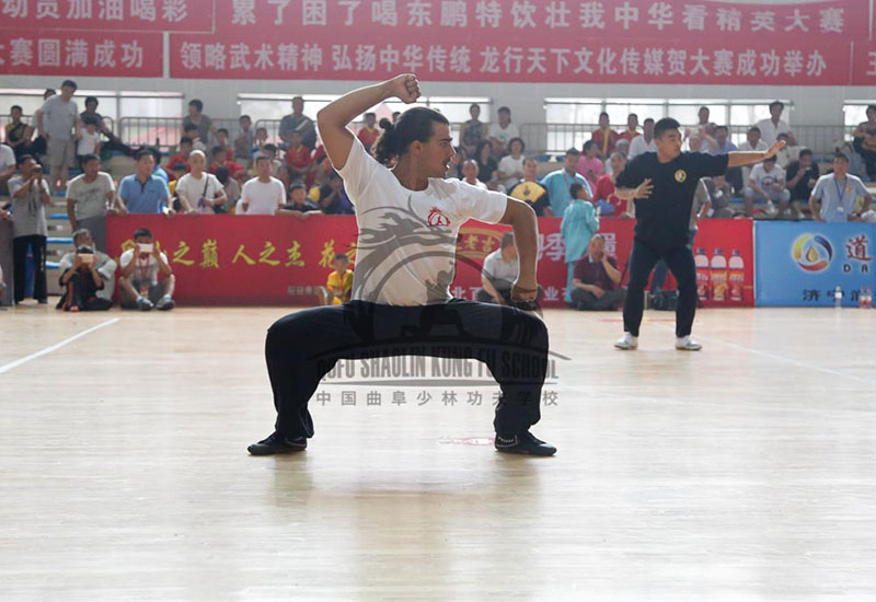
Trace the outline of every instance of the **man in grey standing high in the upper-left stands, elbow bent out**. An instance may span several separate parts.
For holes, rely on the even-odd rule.
[[[55,190],[67,184],[70,169],[76,167],[76,124],[79,111],[72,100],[77,85],[72,80],[61,83],[61,93],[50,96],[36,112],[36,127],[48,141],[50,187]]]

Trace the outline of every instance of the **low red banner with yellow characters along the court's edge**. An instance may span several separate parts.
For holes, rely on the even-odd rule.
[[[560,218],[539,219],[539,282],[543,305],[564,306],[565,244]],[[609,254],[625,266],[633,244],[633,221],[601,220]],[[168,219],[131,216],[107,220],[110,254],[129,248],[137,228],[149,228],[176,274],[176,298],[188,304],[314,304],[336,253],[356,258],[356,219],[314,215],[308,221],[272,216],[197,216]],[[474,299],[484,257],[499,247],[507,227],[470,221],[458,240],[453,297]],[[695,246],[723,248],[729,261],[739,250],[745,263],[745,300],[753,305],[753,252],[750,220],[706,220]],[[727,268],[729,269],[729,268]],[[721,276],[721,266],[715,267]],[[710,304],[731,304],[710,302]]]

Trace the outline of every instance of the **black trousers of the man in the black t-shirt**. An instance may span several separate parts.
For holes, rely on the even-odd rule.
[[[696,266],[693,254],[687,246],[656,250],[642,241],[633,242],[630,255],[630,281],[623,304],[623,329],[638,336],[642,313],[645,311],[645,287],[654,265],[664,259],[678,281],[678,309],[676,310],[676,336],[691,334],[693,315],[696,312]]]

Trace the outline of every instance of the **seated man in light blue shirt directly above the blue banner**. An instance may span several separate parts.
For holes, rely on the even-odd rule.
[[[858,197],[864,198],[864,205],[856,210]],[[849,173],[849,158],[843,153],[833,155],[833,173],[819,177],[809,197],[812,219],[823,222],[861,221],[872,204],[864,183]]]

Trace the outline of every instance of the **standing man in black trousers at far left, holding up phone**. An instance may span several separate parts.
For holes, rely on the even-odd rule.
[[[24,274],[27,248],[34,259],[34,299],[48,301],[46,286],[46,206],[51,202],[49,186],[43,177],[43,166],[30,154],[19,159],[21,175],[9,181],[12,195],[12,263],[15,274],[15,303],[24,301]]]

